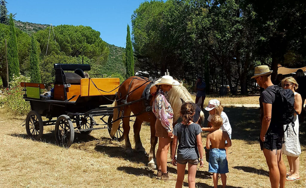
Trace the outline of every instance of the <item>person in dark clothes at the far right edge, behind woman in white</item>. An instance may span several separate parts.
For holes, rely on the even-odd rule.
[[[306,99],[306,77],[302,69],[297,70],[296,80],[297,80],[297,84],[299,85],[299,89],[297,90],[297,92],[302,97],[302,111],[301,111],[299,118],[300,118],[300,122],[303,122],[305,118],[304,103]]]

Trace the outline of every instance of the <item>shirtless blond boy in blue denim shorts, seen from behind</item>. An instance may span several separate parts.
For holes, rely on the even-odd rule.
[[[211,125],[214,132],[208,134],[206,148],[210,149],[208,172],[213,173],[214,188],[218,187],[218,176],[221,174],[222,188],[226,186],[226,173],[229,172],[225,147],[232,146],[230,136],[226,131],[222,131],[223,120],[221,116],[215,115],[211,118]],[[227,143],[225,143],[227,141]]]

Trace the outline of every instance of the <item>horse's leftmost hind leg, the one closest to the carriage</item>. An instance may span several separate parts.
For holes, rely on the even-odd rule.
[[[124,108],[124,116],[130,116],[131,115],[131,108],[128,106]],[[129,132],[130,132],[130,118],[123,118],[123,135],[125,140],[125,146],[124,150],[126,154],[131,154],[133,152],[130,138],[129,138]]]

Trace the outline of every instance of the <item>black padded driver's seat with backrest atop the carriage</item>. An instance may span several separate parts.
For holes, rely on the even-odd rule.
[[[55,83],[58,84],[80,84],[81,79],[85,78],[84,70],[90,70],[89,64],[54,64]],[[72,72],[64,72],[74,71]]]

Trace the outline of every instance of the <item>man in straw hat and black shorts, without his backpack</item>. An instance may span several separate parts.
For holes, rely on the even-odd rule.
[[[278,89],[278,86],[273,85],[271,81],[271,73],[267,65],[260,65],[255,67],[254,76],[252,76],[257,84],[264,88],[259,97],[261,124],[259,143],[269,167],[271,187],[285,188],[286,166],[282,157],[284,129],[283,125],[278,123],[276,94],[270,91]]]

